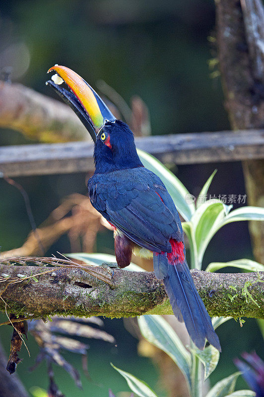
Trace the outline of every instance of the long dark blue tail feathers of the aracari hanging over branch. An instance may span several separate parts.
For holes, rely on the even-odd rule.
[[[186,260],[182,264],[170,265],[167,254],[154,254],[153,265],[156,277],[163,279],[174,315],[180,322],[185,322],[187,331],[198,349],[204,348],[206,338],[221,351],[218,336],[198,295]]]

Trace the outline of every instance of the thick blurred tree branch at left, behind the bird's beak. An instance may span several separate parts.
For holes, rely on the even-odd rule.
[[[0,127],[41,142],[90,140],[77,116],[65,104],[21,84],[0,81]]]

